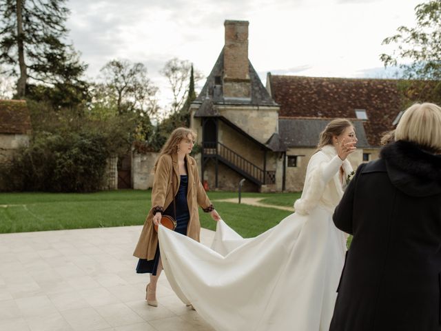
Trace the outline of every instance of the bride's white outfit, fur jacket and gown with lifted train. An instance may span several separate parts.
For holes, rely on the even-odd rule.
[[[329,330],[346,251],[332,221],[340,166],[346,178],[351,165],[332,146],[314,154],[296,212],[258,237],[243,239],[218,221],[210,249],[161,226],[163,266],[178,297],[218,331]]]

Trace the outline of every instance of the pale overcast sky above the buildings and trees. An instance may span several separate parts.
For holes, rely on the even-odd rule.
[[[267,72],[384,78],[379,55],[398,26],[415,26],[423,0],[69,0],[69,37],[88,77],[112,59],[139,61],[170,98],[159,70],[173,57],[207,76],[224,44],[225,19],[249,21],[249,59]],[[201,82],[203,84],[203,82]],[[201,85],[200,84],[200,85]],[[200,89],[202,86],[199,86]]]

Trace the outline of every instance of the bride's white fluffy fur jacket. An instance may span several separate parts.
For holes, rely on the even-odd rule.
[[[341,166],[345,172],[343,184],[339,174]],[[309,160],[302,197],[294,203],[296,212],[309,214],[319,204],[329,212],[334,212],[343,196],[347,176],[351,172],[351,163],[347,159],[342,161],[334,146],[324,146]]]

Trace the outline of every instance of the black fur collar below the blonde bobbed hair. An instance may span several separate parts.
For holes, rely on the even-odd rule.
[[[403,140],[390,143],[380,156],[396,170],[441,183],[441,155],[428,152],[416,143]]]

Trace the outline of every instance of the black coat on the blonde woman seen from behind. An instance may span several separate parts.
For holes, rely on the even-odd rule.
[[[353,234],[331,331],[441,330],[441,155],[398,141],[334,212]]]

